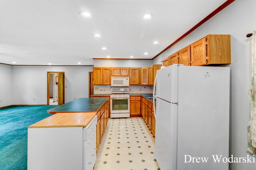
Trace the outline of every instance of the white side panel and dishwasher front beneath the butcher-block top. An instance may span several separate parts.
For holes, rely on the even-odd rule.
[[[93,170],[97,115],[86,127],[28,128],[28,170]]]

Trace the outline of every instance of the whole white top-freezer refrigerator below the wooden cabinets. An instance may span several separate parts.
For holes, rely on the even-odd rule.
[[[230,68],[175,64],[157,70],[155,82],[154,154],[160,169],[228,170],[212,155],[228,158]],[[190,156],[209,158],[193,163]]]

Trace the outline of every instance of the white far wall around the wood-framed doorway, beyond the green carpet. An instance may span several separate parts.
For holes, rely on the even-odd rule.
[[[88,72],[92,66],[12,66],[12,104],[46,104],[47,71],[65,72],[65,103],[88,97]]]

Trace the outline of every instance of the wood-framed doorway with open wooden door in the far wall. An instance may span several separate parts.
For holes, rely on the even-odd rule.
[[[47,105],[64,104],[65,72],[47,72]]]

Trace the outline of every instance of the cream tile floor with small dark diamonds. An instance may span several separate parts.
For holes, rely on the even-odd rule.
[[[143,118],[109,119],[94,170],[160,170]]]

